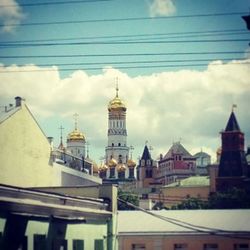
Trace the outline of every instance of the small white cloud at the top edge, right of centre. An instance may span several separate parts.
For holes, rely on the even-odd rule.
[[[176,12],[173,0],[153,0],[149,4],[150,16],[169,16]]]

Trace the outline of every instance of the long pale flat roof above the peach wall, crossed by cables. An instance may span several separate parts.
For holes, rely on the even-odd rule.
[[[250,209],[236,210],[161,210],[158,216],[183,221],[199,227],[250,233]],[[212,230],[214,231],[214,230]],[[119,211],[118,235],[196,234],[185,226],[175,225],[142,211]],[[204,233],[209,233],[205,230]]]

